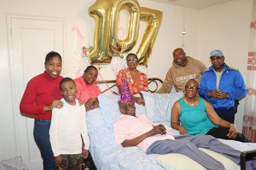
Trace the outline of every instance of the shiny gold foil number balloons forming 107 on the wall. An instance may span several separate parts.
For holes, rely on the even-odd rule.
[[[129,25],[126,39],[120,40],[119,16],[123,9],[129,12]],[[88,56],[91,64],[109,64],[113,52],[123,53],[131,50],[137,43],[139,22],[146,21],[147,28],[136,54],[139,64],[147,66],[161,25],[161,11],[140,7],[137,0],[97,0],[88,11],[95,19],[94,47]]]

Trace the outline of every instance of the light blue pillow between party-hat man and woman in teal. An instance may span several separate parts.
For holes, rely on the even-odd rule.
[[[170,122],[173,104],[184,96],[183,92],[170,94],[143,93],[146,116],[152,122]]]

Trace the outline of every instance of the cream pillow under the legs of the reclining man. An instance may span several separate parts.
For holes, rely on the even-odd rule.
[[[199,148],[214,159],[220,161],[225,169],[228,170],[239,170],[240,166],[233,162],[231,159],[209,149]],[[180,154],[180,153],[169,153],[166,155],[160,155],[155,158],[155,161],[162,167],[168,170],[180,169],[180,170],[191,170],[191,169],[205,169],[202,165],[194,161],[193,159]]]

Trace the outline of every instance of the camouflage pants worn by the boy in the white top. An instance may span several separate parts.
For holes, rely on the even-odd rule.
[[[82,169],[82,153],[79,154],[61,154],[62,160],[61,163],[56,165],[56,169],[58,170],[64,170],[67,169],[67,167],[70,167],[72,170],[80,170]]]

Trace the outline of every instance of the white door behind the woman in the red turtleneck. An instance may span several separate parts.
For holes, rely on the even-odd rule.
[[[54,50],[64,61],[64,20],[7,15],[9,56],[17,155],[29,169],[43,169],[43,161],[33,138],[34,119],[21,114],[19,103],[27,82],[45,70],[45,55]],[[40,84],[39,84],[40,86]]]

